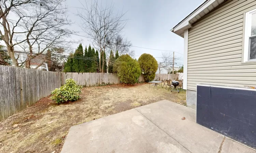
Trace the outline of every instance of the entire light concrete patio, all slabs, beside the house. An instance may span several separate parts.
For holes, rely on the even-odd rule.
[[[196,124],[195,117],[194,109],[162,100],[72,126],[61,152],[255,151],[228,138],[222,144],[224,136]]]

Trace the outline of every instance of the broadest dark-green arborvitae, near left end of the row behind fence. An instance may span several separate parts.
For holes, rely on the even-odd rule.
[[[75,50],[74,59],[73,59],[74,64],[72,68],[75,72],[84,72],[85,63],[84,63],[83,57],[84,57],[83,46],[82,44],[79,44],[79,46]]]

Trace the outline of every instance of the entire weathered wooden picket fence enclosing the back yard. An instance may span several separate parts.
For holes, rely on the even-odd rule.
[[[179,74],[156,74],[154,80],[176,79]],[[0,121],[18,113],[39,99],[51,95],[51,91],[72,78],[79,85],[118,84],[120,79],[113,73],[50,72],[0,65]],[[145,82],[143,74],[139,82]]]

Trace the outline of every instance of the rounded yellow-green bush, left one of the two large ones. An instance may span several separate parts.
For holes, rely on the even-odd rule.
[[[117,58],[114,69],[122,83],[134,84],[138,82],[141,74],[140,66],[137,61],[133,60],[128,54],[121,55]]]

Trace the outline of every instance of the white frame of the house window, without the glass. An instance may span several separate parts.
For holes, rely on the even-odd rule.
[[[243,62],[255,62],[256,59],[249,60],[249,48],[250,48],[250,38],[256,37],[256,35],[251,36],[252,31],[252,14],[256,13],[256,9],[245,13],[245,29],[244,29],[244,48],[243,48]]]

